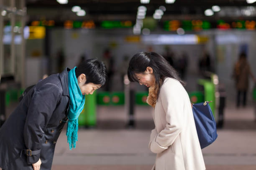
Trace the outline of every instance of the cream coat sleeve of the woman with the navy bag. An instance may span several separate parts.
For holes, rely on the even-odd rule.
[[[182,94],[184,92],[182,92],[182,85],[176,80],[173,81],[175,82],[166,82],[160,89],[159,100],[161,100],[164,108],[167,123],[165,128],[156,134],[154,140],[150,143],[150,150],[153,153],[161,153],[166,150],[182,131],[184,108]]]

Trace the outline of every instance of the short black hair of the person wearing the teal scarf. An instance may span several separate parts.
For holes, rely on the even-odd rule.
[[[85,74],[85,84],[91,82],[95,85],[105,85],[108,78],[105,64],[97,59],[89,59],[81,62],[75,72],[76,77]]]

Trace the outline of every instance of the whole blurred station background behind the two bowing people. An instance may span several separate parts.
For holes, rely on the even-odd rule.
[[[254,2],[0,0],[0,125],[26,87],[97,58],[109,81],[86,96],[77,148],[61,133],[52,169],[150,169],[148,89],[126,73],[135,53],[158,52],[191,102],[212,101],[219,136],[202,150],[207,169],[256,170]]]

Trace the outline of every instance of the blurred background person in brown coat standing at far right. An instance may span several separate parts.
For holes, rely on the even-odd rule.
[[[239,55],[238,61],[234,65],[233,78],[235,79],[237,98],[236,107],[240,106],[240,96],[243,94],[243,107],[246,106],[246,94],[249,85],[249,76],[252,77],[254,83],[256,82],[253,73],[251,72],[251,67],[246,60],[246,53],[242,52]]]

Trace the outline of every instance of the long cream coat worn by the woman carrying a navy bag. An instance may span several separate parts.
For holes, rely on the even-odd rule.
[[[157,155],[152,170],[205,170],[189,96],[179,81],[164,80],[153,117],[149,149]]]

